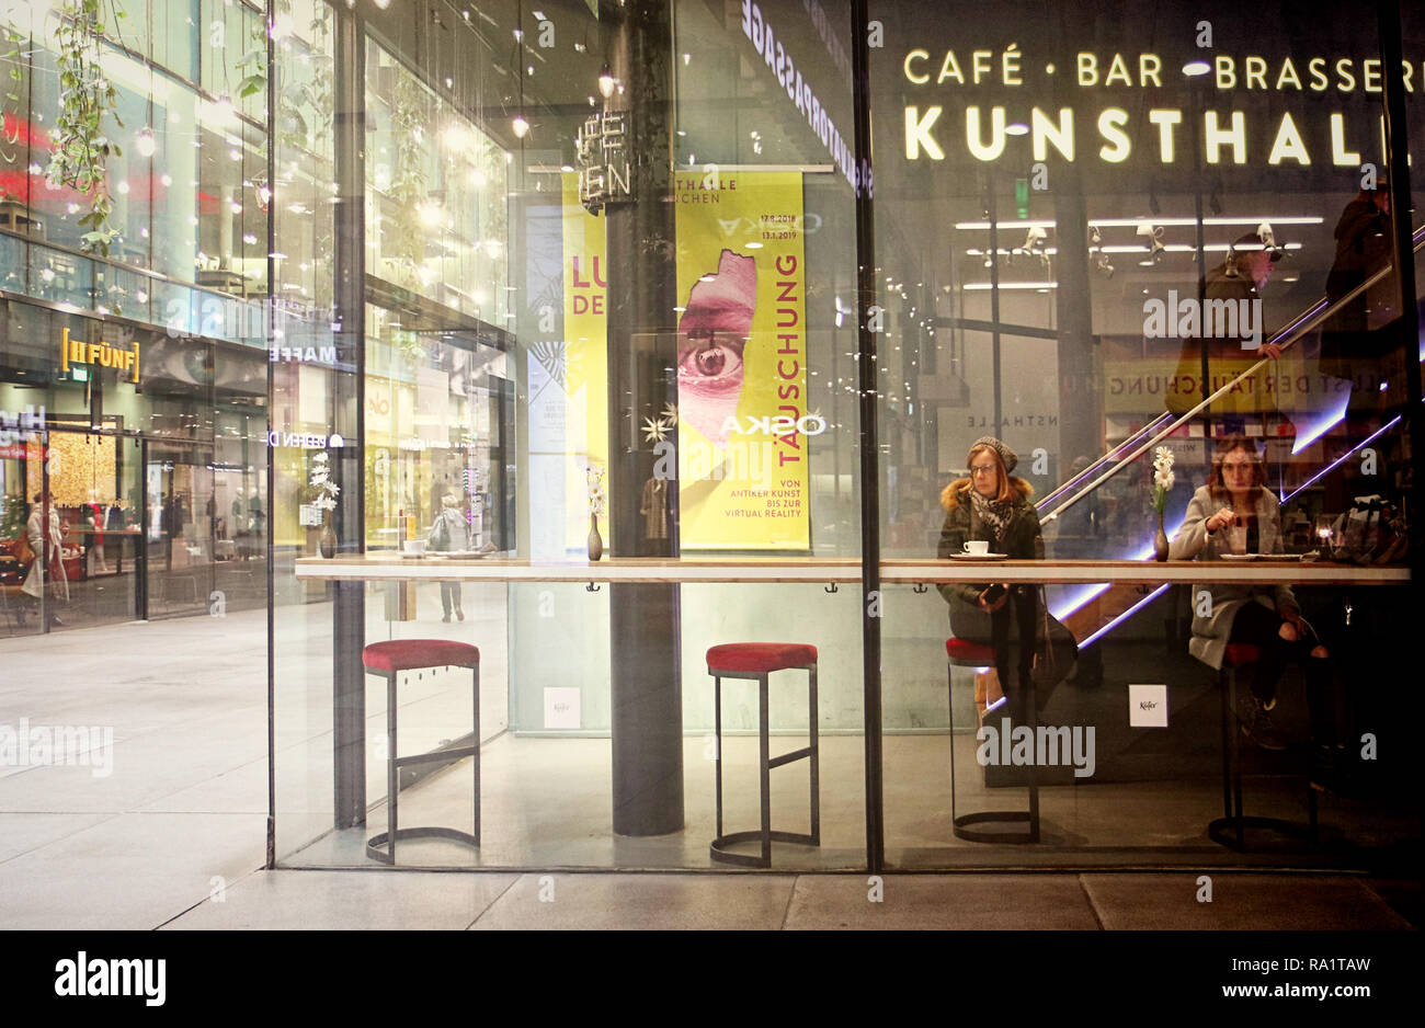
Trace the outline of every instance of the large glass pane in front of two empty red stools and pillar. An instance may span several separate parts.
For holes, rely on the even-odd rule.
[[[772,755],[819,736],[817,773],[778,769],[768,796],[777,830],[804,834],[819,800],[819,844],[778,841],[775,864],[865,863],[862,604],[817,577],[859,554],[846,159],[824,115],[792,117],[775,71],[745,74],[761,27],[754,46],[735,7],[674,7],[442,9],[428,50],[369,13],[358,48],[332,54],[338,95],[343,75],[363,84],[365,130],[333,135],[335,205],[315,177],[299,194],[312,162],[279,140],[279,289],[305,282],[296,261],[365,285],[333,295],[333,369],[304,350],[275,373],[275,557],[295,558],[274,639],[285,863],[366,866],[388,817],[386,683],[356,649],[333,668],[333,646],[429,639],[480,649],[482,843],[400,841],[396,863],[720,866],[720,829],[760,823],[761,713],[735,676],[715,713],[707,651],[768,641],[819,655],[815,715],[805,671],[771,683]],[[781,19],[808,41],[794,51],[817,110],[846,131],[848,11]],[[359,231],[286,236],[292,204]],[[333,431],[341,453],[311,441]],[[326,585],[323,518],[342,547],[328,568],[393,574]],[[398,555],[412,541],[425,557]],[[668,581],[603,574],[641,558]],[[708,558],[727,581],[687,577]],[[777,562],[797,578],[767,584]],[[569,581],[586,567],[600,582]],[[395,695],[400,753],[472,745],[467,672]],[[469,830],[472,773],[465,757],[403,782],[402,823]]]

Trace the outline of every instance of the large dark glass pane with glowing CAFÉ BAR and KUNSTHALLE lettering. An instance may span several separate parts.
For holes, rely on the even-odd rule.
[[[1391,676],[1398,654],[1362,658],[1347,614],[1399,602],[1349,568],[1399,562],[1392,530],[1361,530],[1398,514],[1406,466],[1392,279],[1347,299],[1389,262],[1375,21],[1211,3],[1112,21],[1017,3],[871,14],[886,33],[871,50],[882,540],[962,568],[940,597],[888,601],[889,857],[1235,860],[1210,832],[1224,746],[1247,813],[1300,830],[1248,844],[1334,859],[1312,850],[1308,799],[1349,860],[1411,837],[1408,804],[1361,756],[1381,726],[1355,685],[1362,659]],[[1160,524],[1178,584],[1129,564],[1153,558]],[[949,560],[968,541],[1007,554],[1005,571]],[[1311,585],[1308,552],[1341,578]],[[1015,558],[1046,561],[1043,594],[1033,565],[1015,582]],[[1257,579],[1223,585],[1234,558]],[[1046,632],[1062,664],[1030,705]],[[1228,642],[1261,661],[1224,713]],[[1035,746],[1012,745],[1025,730]],[[1025,817],[1037,847],[973,837]]]

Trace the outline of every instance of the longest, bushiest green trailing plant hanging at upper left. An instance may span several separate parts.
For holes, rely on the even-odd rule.
[[[44,177],[54,187],[68,187],[88,196],[90,209],[78,224],[87,229],[80,248],[108,256],[118,231],[108,224],[114,198],[108,194],[108,158],[123,150],[108,138],[104,120],[120,128],[118,90],[100,67],[100,46],[105,26],[103,7],[113,19],[124,17],[104,0],[58,0],[60,27],[56,33],[54,64],[60,75],[60,111],[54,118],[53,150]]]

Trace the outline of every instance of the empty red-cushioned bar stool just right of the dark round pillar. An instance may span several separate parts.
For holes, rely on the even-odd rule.
[[[712,646],[708,651],[708,673],[712,675],[712,709],[717,730],[717,837],[708,847],[708,856],[724,864],[740,867],[771,867],[772,840],[779,843],[802,843],[821,846],[821,757],[817,745],[817,648],[797,642],[732,642]],[[805,668],[808,672],[807,696],[811,720],[811,740],[802,749],[779,756],[771,756],[767,739],[767,676],[774,671]],[[758,682],[758,732],[761,738],[761,793],[762,827],[755,832],[722,832],[722,679],[752,678]],[[772,767],[801,759],[811,760],[811,833],[772,832]],[[760,840],[761,856],[728,853],[725,847],[735,843]]]

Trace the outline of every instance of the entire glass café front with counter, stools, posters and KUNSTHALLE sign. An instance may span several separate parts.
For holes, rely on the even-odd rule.
[[[274,290],[322,298],[269,407],[279,864],[390,859],[393,789],[480,819],[418,867],[757,863],[764,809],[784,870],[1414,844],[1352,686],[1414,589],[1409,24],[416,6],[274,73],[312,41],[333,114],[326,196],[274,144]],[[475,698],[365,675],[433,641]],[[815,672],[714,683],[751,642]],[[1300,832],[1224,834],[1238,782]]]

